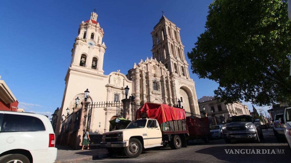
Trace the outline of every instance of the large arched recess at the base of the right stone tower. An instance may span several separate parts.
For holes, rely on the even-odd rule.
[[[187,87],[181,87],[179,90],[180,97],[177,97],[181,101],[181,105],[187,112],[195,113],[194,101],[191,91]]]

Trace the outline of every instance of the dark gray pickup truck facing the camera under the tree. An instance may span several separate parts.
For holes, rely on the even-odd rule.
[[[260,120],[251,115],[229,117],[222,126],[222,133],[226,143],[231,143],[232,139],[255,140],[259,143],[264,139]]]

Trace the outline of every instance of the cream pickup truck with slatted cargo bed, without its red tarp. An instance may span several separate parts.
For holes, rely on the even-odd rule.
[[[137,119],[126,129],[104,133],[101,146],[107,147],[109,155],[125,151],[129,158],[138,157],[143,148],[152,148],[169,144],[172,149],[186,145],[185,119],[158,124],[156,119]]]

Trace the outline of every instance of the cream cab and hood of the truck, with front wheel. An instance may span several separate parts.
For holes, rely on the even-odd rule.
[[[135,158],[143,148],[162,146],[162,132],[156,119],[137,119],[126,129],[104,133],[100,144],[107,147],[109,154],[124,148],[129,158]]]

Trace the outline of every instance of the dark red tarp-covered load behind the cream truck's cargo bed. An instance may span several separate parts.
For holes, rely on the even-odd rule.
[[[209,135],[209,121],[207,117],[186,117],[186,123],[189,130],[189,135]]]

